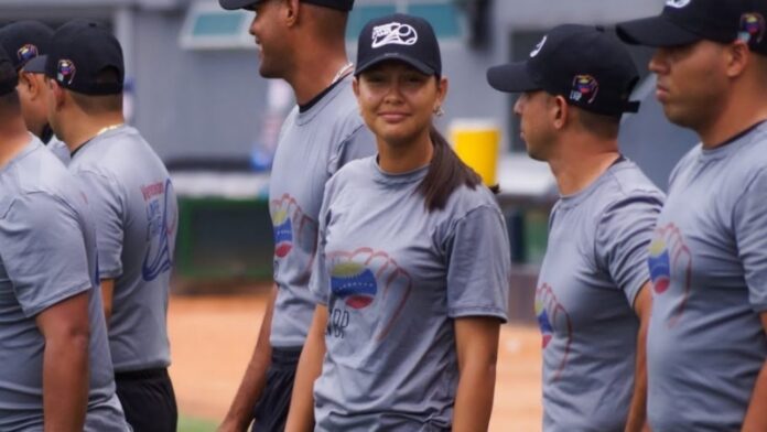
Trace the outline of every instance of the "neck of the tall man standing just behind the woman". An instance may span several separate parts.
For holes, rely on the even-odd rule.
[[[294,73],[285,77],[285,80],[293,88],[295,101],[299,105],[306,105],[324,89],[331,86],[335,79],[352,72],[348,65],[345,50],[335,50],[330,55],[311,55],[300,63]]]

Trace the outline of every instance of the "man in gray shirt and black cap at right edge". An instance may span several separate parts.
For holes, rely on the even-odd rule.
[[[671,173],[649,267],[656,432],[767,431],[767,2],[669,0],[618,25],[656,46],[670,121],[701,143]]]

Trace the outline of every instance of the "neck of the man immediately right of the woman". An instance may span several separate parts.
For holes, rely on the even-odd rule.
[[[594,183],[620,156],[616,141],[598,145],[564,142],[566,150],[550,159],[561,195],[576,194]]]

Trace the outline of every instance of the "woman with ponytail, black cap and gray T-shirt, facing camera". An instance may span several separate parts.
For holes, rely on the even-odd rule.
[[[487,430],[509,242],[493,194],[433,127],[447,79],[431,25],[369,22],[354,91],[378,155],[326,184],[287,431]]]

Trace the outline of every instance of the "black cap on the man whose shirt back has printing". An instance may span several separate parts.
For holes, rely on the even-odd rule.
[[[117,82],[98,78],[107,68],[117,72]],[[104,25],[74,20],[53,34],[45,75],[60,86],[84,95],[115,95],[122,93],[125,74],[122,47]]]

